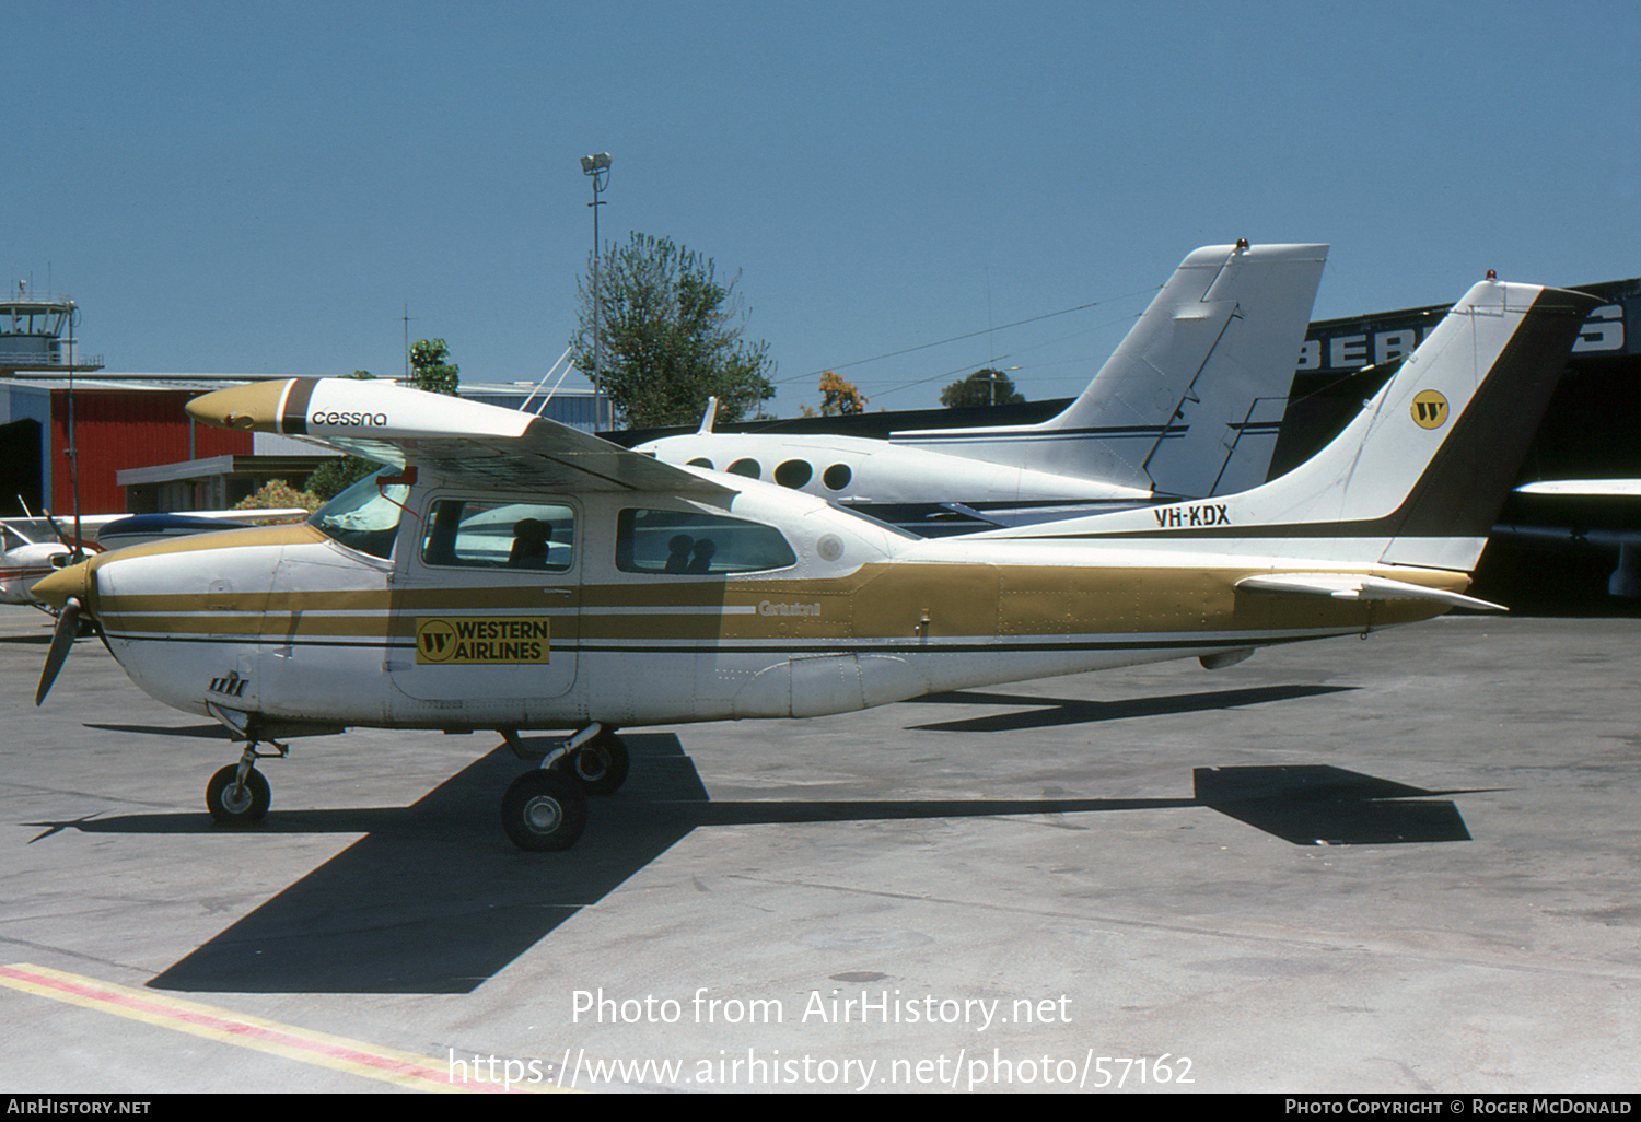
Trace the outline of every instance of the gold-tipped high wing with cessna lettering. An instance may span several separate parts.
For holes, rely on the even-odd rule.
[[[540,490],[735,490],[545,417],[364,379],[297,377],[195,397],[199,422],[312,440],[395,468]]]

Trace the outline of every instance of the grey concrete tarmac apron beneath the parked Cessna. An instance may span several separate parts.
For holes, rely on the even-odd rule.
[[[1641,1089],[1636,620],[630,730],[535,855],[491,735],[295,740],[215,827],[222,732],[97,641],[36,710],[48,623],[0,610],[8,1092]]]

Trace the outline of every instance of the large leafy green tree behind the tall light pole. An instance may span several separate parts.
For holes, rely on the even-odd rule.
[[[747,343],[734,299],[737,274],[719,284],[712,258],[668,238],[633,233],[604,248],[599,262],[601,384],[627,428],[684,425],[719,399],[717,418],[735,422],[775,397],[770,344]],[[571,354],[592,376],[592,267],[576,282],[581,320]]]

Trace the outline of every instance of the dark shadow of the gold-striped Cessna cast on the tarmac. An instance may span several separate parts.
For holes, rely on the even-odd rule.
[[[722,825],[1208,807],[1296,845],[1470,837],[1457,807],[1439,800],[1464,792],[1423,791],[1331,766],[1196,768],[1188,799],[714,802],[678,737],[629,733],[625,740],[633,758],[627,786],[592,802],[586,833],[563,853],[522,853],[496,828],[499,792],[520,771],[502,748],[409,807],[276,805],[249,828],[217,827],[203,812],[30,825],[48,827],[36,842],[62,830],[212,835],[225,846],[225,860],[233,860],[248,833],[366,835],[149,981],[192,992],[471,992],[693,830]]]

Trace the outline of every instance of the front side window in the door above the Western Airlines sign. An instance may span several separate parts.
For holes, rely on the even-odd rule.
[[[440,499],[422,561],[474,569],[563,572],[574,558],[576,512],[558,504]]]

